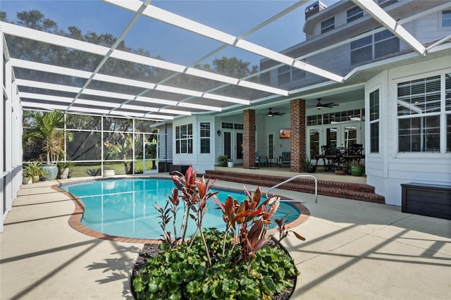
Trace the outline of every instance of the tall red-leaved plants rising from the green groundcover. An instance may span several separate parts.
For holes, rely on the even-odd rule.
[[[268,225],[271,224],[274,213],[276,213],[280,198],[277,196],[271,196],[265,201],[261,202],[261,189],[257,187],[255,192],[249,193],[245,189],[247,199],[238,202],[236,199],[228,196],[224,203],[218,200],[216,194],[218,192],[210,192],[211,187],[214,186],[214,182],[205,180],[204,177],[200,180],[196,180],[197,171],[192,170],[192,166],[187,169],[185,175],[180,172],[175,173],[172,176],[172,180],[175,184],[171,196],[168,196],[168,202],[164,208],[161,208],[156,204],[156,209],[159,211],[159,218],[161,218],[161,228],[164,235],[162,235],[163,242],[167,242],[171,247],[176,248],[179,242],[185,243],[187,224],[190,219],[194,220],[197,226],[197,231],[202,239],[202,242],[206,249],[206,258],[209,266],[211,266],[211,258],[209,253],[209,246],[206,244],[204,233],[202,231],[202,220],[208,208],[207,201],[211,199],[219,209],[223,212],[223,220],[226,223],[226,231],[224,232],[223,239],[223,251],[222,256],[226,253],[226,240],[229,231],[233,232],[234,243],[241,246],[241,254],[237,263],[248,261],[249,265],[247,272],[251,268],[252,261],[256,258],[256,253],[259,249],[263,248],[272,235],[267,235]],[[180,199],[182,201],[180,201]],[[183,202],[183,222],[180,227],[180,235],[177,235],[175,226],[175,215],[178,211],[180,202]],[[260,203],[261,202],[261,203]],[[168,207],[170,206],[170,207]],[[286,216],[285,216],[286,217]],[[285,224],[285,217],[281,220],[275,219],[276,224],[279,226],[279,239],[278,243],[282,239],[288,236],[288,233],[292,230],[288,230],[288,226]],[[170,230],[166,230],[168,223],[173,220],[173,235]],[[294,232],[298,239],[304,240],[304,237]]]

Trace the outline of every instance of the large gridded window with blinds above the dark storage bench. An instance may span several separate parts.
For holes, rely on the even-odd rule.
[[[397,85],[398,150],[440,151],[440,75]]]

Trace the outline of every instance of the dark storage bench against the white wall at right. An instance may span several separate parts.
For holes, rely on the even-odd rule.
[[[451,185],[404,183],[402,212],[451,220]]]

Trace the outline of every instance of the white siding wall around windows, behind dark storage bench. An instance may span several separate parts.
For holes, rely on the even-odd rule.
[[[378,74],[366,84],[366,96],[381,88],[381,127],[379,153],[366,152],[366,178],[376,193],[385,196],[386,204],[401,205],[401,184],[408,182],[449,185],[451,182],[451,151],[398,151],[397,84],[434,75],[451,73],[449,57],[393,68]],[[442,92],[445,94],[445,91]],[[368,99],[366,99],[368,101]],[[443,106],[444,107],[444,106]],[[368,120],[366,120],[368,122]],[[366,124],[369,137],[369,126]],[[441,144],[445,145],[445,118],[440,126]],[[366,139],[369,144],[369,139]]]

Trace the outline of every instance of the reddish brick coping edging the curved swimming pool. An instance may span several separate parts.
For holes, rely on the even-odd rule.
[[[147,177],[146,177],[147,178]],[[159,177],[153,177],[153,178],[159,178]],[[111,180],[111,178],[109,178]],[[120,178],[115,178],[120,179]],[[94,179],[94,180],[105,180],[104,178],[101,179]],[[78,183],[78,182],[87,182],[87,181],[94,181],[94,180],[80,180],[80,181],[73,181],[72,183]],[[89,237],[94,237],[95,239],[106,239],[113,242],[123,242],[123,243],[134,243],[134,244],[160,244],[160,239],[136,239],[131,237],[116,237],[113,235],[106,235],[104,233],[89,229],[85,225],[82,225],[81,219],[82,215],[85,212],[85,204],[73,194],[70,194],[69,192],[66,192],[63,189],[60,189],[59,187],[61,184],[58,185],[52,185],[51,188],[65,194],[70,199],[72,199],[73,203],[75,204],[75,209],[69,217],[69,226],[72,227],[74,230],[77,230],[78,232],[82,233],[83,235],[87,235]],[[216,187],[217,189],[225,189],[221,187]],[[242,192],[239,189],[227,189],[234,192]],[[283,197],[283,199],[286,199],[286,197]],[[288,199],[289,200],[289,199]],[[307,207],[302,205],[299,202],[290,202],[290,205],[295,206],[297,210],[300,212],[299,217],[296,220],[293,220],[290,224],[288,224],[288,227],[293,228],[296,227],[302,223],[304,223],[310,216],[310,211]],[[276,233],[278,232],[277,228],[273,228],[271,230],[268,230],[269,233]]]

